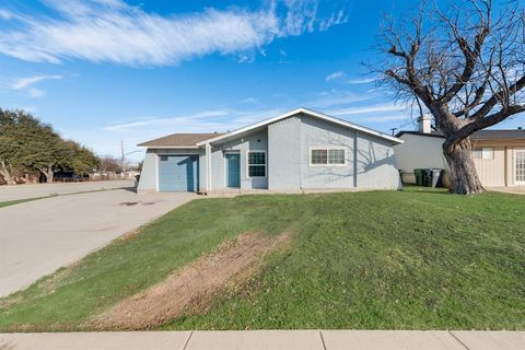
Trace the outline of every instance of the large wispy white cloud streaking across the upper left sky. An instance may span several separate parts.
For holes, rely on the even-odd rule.
[[[183,15],[145,12],[120,0],[47,0],[45,4],[59,16],[13,18],[2,10],[2,19],[19,25],[0,33],[0,52],[54,63],[73,58],[164,66],[212,52],[248,52],[276,37],[320,30],[322,24],[326,30],[340,23],[330,21],[331,14],[326,21],[318,16],[318,0],[289,0],[283,11],[270,2],[256,11],[207,9]],[[249,56],[244,54],[240,60],[249,61]]]

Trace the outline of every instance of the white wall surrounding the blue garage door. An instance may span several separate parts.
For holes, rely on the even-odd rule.
[[[198,154],[199,188],[206,188],[205,150],[200,149],[148,149],[137,190],[139,192],[159,190],[159,155]]]

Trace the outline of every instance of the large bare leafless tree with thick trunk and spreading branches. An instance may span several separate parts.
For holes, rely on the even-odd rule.
[[[380,50],[383,82],[443,132],[456,194],[483,191],[469,136],[525,112],[523,2],[451,1],[387,19]]]

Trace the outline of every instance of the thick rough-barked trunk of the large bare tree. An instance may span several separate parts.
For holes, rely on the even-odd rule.
[[[450,148],[444,147],[443,153],[451,172],[453,194],[469,195],[485,191],[476,171],[472,145],[468,138]]]

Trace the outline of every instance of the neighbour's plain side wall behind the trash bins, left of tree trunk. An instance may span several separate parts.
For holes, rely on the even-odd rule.
[[[416,184],[415,168],[447,168],[443,138],[404,133],[401,139],[405,143],[394,145],[394,151],[405,183]]]

